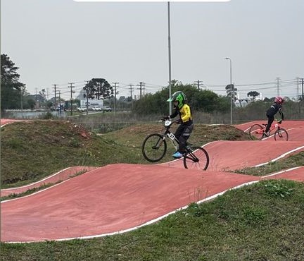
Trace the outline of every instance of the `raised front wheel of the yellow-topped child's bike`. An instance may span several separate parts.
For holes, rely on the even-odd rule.
[[[150,134],[145,138],[141,151],[148,162],[159,162],[167,152],[167,142],[159,133]]]

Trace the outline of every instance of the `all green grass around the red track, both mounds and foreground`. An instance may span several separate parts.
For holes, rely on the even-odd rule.
[[[64,121],[9,124],[1,129],[1,188],[32,183],[73,165],[148,164],[142,159],[141,142],[161,130],[161,124],[139,124],[101,135]],[[196,124],[189,141],[203,145],[212,140],[249,138],[232,126]],[[303,152],[269,165],[240,172],[260,176],[303,166]],[[0,260],[303,260],[303,217],[304,183],[260,181],[201,205],[194,202],[129,233],[1,243]]]

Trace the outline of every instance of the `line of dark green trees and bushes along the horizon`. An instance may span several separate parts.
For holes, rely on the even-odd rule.
[[[19,109],[23,106],[23,109],[33,109],[35,100],[30,98],[30,95],[26,92],[25,84],[20,83],[20,75],[17,73],[18,67],[6,54],[1,54],[1,115],[4,114],[6,109]],[[166,102],[169,96],[169,88],[174,93],[177,90],[182,90],[186,94],[187,102],[191,105],[193,111],[201,111],[207,114],[227,114],[230,109],[231,95],[236,96],[236,89],[234,85],[226,86],[226,96],[217,95],[211,90],[199,90],[194,84],[182,84],[178,80],[172,80],[171,85],[163,87],[162,90],[153,94],[146,94],[141,99],[133,100],[132,97],[127,99],[116,99],[115,90],[108,81],[104,78],[92,78],[88,81],[87,85],[83,87],[85,90],[84,99],[108,99],[110,103],[117,105],[117,108],[122,109],[131,108],[133,114],[144,115],[166,115],[169,111],[169,102]],[[45,99],[45,90],[39,92],[39,95]],[[259,93],[255,91],[248,92],[248,97],[258,96]],[[114,99],[116,99],[114,101]],[[36,99],[37,100],[37,99]],[[235,99],[234,99],[235,100]],[[265,102],[273,102],[274,97],[265,98],[264,103],[258,102],[260,107],[267,107],[268,104]],[[65,105],[68,106],[68,102]],[[76,100],[74,101],[76,102]],[[80,102],[77,100],[77,102]],[[46,101],[46,107],[51,107],[54,101]],[[256,103],[256,102],[254,102]],[[266,104],[266,105],[265,105]],[[289,102],[291,104],[291,101]],[[303,104],[303,102],[300,102]],[[248,108],[243,109],[247,111],[250,107],[253,107],[253,103],[249,104]],[[235,108],[235,111],[239,110]],[[258,111],[258,107],[255,111]],[[298,109],[293,111],[299,111]],[[292,112],[292,109],[291,109]],[[300,112],[300,111],[299,111]]]

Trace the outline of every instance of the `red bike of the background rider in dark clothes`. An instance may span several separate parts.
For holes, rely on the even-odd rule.
[[[288,140],[289,139],[289,134],[287,133],[287,130],[284,128],[280,127],[281,120],[280,119],[275,119],[277,123],[272,124],[270,127],[270,135],[274,131],[274,140]],[[249,129],[249,136],[251,137],[252,140],[262,140],[263,138],[267,138],[268,135],[265,134],[265,128],[267,124],[253,124],[251,128]]]

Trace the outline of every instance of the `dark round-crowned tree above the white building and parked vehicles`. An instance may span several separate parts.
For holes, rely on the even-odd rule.
[[[107,99],[113,97],[113,87],[103,78],[93,78],[84,86],[84,90],[87,91],[87,95],[84,97],[89,99]]]

